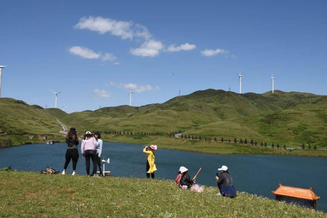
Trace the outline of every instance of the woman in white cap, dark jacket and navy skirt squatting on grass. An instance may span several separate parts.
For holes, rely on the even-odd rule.
[[[216,173],[216,182],[220,191],[220,194],[227,197],[236,197],[236,191],[233,186],[232,176],[228,171],[227,166],[222,166],[218,170],[221,170],[220,175]]]

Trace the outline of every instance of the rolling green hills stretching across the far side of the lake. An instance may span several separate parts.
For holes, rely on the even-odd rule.
[[[218,139],[233,140],[236,137],[237,140],[253,138],[268,144],[327,145],[327,97],[311,93],[275,90],[273,94],[271,91],[237,94],[207,89],[162,104],[121,105],[71,114],[15,101],[0,99],[0,105],[7,107],[6,116],[0,118],[3,131],[56,132],[61,129],[56,122],[59,119],[68,128],[74,126],[79,132],[182,130],[186,134]],[[23,125],[19,125],[20,121]]]

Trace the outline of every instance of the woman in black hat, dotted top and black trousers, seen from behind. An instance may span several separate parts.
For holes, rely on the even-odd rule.
[[[78,161],[78,138],[77,138],[77,132],[75,128],[70,128],[69,132],[66,135],[66,143],[67,143],[67,151],[66,151],[66,162],[63,167],[62,175],[66,173],[67,166],[70,162],[70,159],[73,159],[73,174],[76,174],[76,164]]]

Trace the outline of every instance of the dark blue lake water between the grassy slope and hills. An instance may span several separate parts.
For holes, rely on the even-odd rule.
[[[66,143],[54,145],[22,145],[0,149],[0,168],[11,166],[23,171],[41,171],[46,166],[62,171]],[[80,151],[80,148],[78,148]],[[146,177],[146,154],[140,144],[104,142],[102,156],[110,158],[106,170],[116,177]],[[195,152],[160,149],[156,151],[156,178],[175,179],[180,166],[194,176],[202,167],[197,182],[215,186],[215,173],[227,165],[237,191],[274,198],[271,193],[279,183],[301,188],[313,187],[321,196],[319,204],[327,210],[327,158],[268,156],[268,155],[210,155]],[[91,166],[92,169],[92,166]],[[72,172],[72,162],[67,168]],[[77,173],[86,174],[85,160],[79,156]]]

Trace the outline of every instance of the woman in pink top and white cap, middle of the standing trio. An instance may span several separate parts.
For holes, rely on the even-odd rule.
[[[97,146],[96,140],[91,132],[86,132],[82,141],[81,152],[86,164],[86,174],[90,176],[90,158],[93,162],[93,172],[91,176],[96,175],[96,158],[97,158]]]

